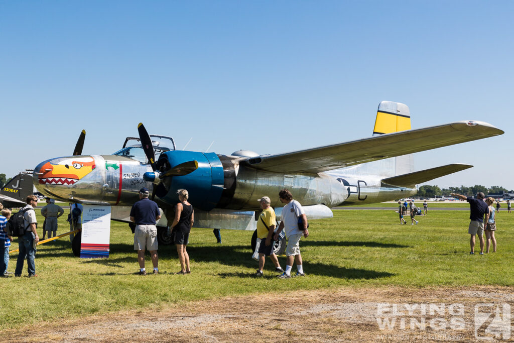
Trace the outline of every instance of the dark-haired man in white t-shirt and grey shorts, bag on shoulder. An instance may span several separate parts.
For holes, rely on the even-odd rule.
[[[278,275],[280,279],[289,279],[291,277],[291,269],[293,262],[296,261],[298,272],[296,276],[305,276],[302,266],[302,256],[300,255],[300,238],[309,236],[307,230],[307,216],[303,211],[302,205],[296,200],[293,200],[291,192],[283,189],[279,192],[280,202],[285,204],[282,208],[282,218],[273,239],[278,240],[279,233],[285,229],[287,246],[286,246],[286,270],[283,274]],[[302,219],[301,227],[298,227],[298,219]]]

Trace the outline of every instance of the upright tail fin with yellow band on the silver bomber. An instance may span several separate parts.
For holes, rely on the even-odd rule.
[[[411,114],[406,104],[382,101],[378,105],[373,136],[411,129]],[[391,177],[412,173],[414,158],[412,154],[381,159],[354,167],[345,168],[345,173],[380,175]]]

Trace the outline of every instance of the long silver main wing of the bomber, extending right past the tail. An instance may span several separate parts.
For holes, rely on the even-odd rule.
[[[307,150],[251,157],[242,163],[277,173],[319,173],[503,134],[483,121],[457,121]]]

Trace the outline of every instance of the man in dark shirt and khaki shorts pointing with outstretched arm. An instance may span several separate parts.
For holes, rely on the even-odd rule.
[[[480,255],[484,255],[484,215],[489,214],[489,207],[484,202],[485,194],[482,192],[476,193],[476,199],[471,196],[456,193],[450,193],[450,195],[456,196],[469,203],[469,219],[471,220],[468,228],[468,233],[471,235],[469,240],[471,252],[469,254],[474,254],[475,234],[478,234],[480,240]]]

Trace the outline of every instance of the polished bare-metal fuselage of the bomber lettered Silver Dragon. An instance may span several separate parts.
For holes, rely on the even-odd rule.
[[[42,183],[41,175],[34,173],[36,188],[47,196],[65,202],[112,206],[132,206],[139,200],[140,188],[152,188],[152,183],[143,179],[145,172],[152,171],[147,164],[115,155],[87,157],[94,159],[95,167],[75,183]],[[240,165],[240,158],[237,157],[229,158],[235,171],[235,189],[230,201],[223,206],[227,210],[259,210],[256,200],[265,195],[271,198],[273,207],[282,207],[278,193],[283,188],[289,189],[304,206],[323,204],[329,208],[394,200],[416,192],[415,188],[384,185],[380,182],[380,176],[359,175],[356,178],[354,175],[344,175],[344,170],[318,174],[275,173]],[[59,165],[64,159],[70,157],[52,159],[49,165]],[[194,205],[194,199],[190,201]],[[166,207],[174,204],[161,202],[159,205]]]

